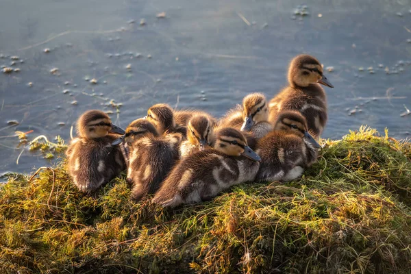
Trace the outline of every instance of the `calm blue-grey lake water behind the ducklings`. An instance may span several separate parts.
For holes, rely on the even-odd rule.
[[[112,111],[126,127],[160,102],[221,116],[249,92],[273,97],[299,53],[334,67],[323,138],[362,124],[407,138],[411,115],[400,115],[411,108],[411,1],[319,0],[307,4],[308,16],[294,16],[301,4],[2,0],[0,65],[20,71],[0,73],[0,173],[50,164],[27,149],[16,164],[22,148],[8,137],[16,131],[69,142],[85,110]]]

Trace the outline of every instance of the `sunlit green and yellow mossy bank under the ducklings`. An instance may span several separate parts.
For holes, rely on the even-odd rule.
[[[0,187],[1,273],[410,273],[411,145],[373,129],[327,141],[287,184],[241,184],[163,210],[99,198],[64,164]]]

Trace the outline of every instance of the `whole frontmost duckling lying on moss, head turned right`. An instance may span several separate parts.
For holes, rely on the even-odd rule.
[[[174,208],[207,201],[234,184],[256,177],[260,157],[245,136],[226,127],[216,133],[214,149],[197,151],[181,160],[155,193],[153,202]]]

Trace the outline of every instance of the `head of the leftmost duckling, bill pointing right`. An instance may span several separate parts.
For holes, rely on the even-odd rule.
[[[88,110],[77,121],[77,133],[82,138],[101,138],[109,133],[124,134],[121,127],[113,125],[110,117],[100,110]]]

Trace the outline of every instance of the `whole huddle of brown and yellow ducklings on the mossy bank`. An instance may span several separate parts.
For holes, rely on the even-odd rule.
[[[210,200],[234,184],[296,179],[316,161],[327,121],[319,84],[333,86],[310,55],[291,61],[288,82],[271,101],[252,93],[219,120],[159,103],[123,130],[89,110],[66,152],[69,174],[92,193],[126,170],[132,199],[153,194],[154,203],[171,208]]]

